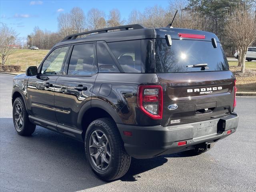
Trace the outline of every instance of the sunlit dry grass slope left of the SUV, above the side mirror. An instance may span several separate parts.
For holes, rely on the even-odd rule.
[[[16,65],[19,63],[21,70],[26,70],[26,61],[28,66],[39,66],[49,50],[30,50],[30,49],[17,49],[13,54],[9,56],[5,65]],[[0,61],[0,64],[2,62]]]

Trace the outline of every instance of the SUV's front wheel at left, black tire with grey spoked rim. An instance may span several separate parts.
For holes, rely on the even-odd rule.
[[[12,119],[14,128],[19,135],[30,136],[34,133],[36,125],[32,124],[28,119],[28,112],[22,97],[15,99],[12,106]]]

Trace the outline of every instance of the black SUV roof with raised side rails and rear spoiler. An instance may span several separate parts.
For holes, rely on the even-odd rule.
[[[119,31],[116,31],[119,30]],[[93,30],[88,32],[82,32],[78,34],[69,35],[64,38],[61,42],[57,43],[56,46],[62,46],[66,44],[74,44],[80,42],[94,42],[94,41],[106,41],[106,42],[116,42],[116,41],[127,41],[127,40],[138,40],[138,39],[151,39],[151,38],[165,38],[166,34],[170,34],[172,39],[180,39],[179,33],[184,34],[198,34],[204,35],[204,40],[211,41],[215,38],[219,42],[218,37],[210,32],[193,30],[193,29],[182,29],[182,28],[144,28],[141,25],[125,25],[117,26],[112,28],[104,28],[99,30]],[[87,35],[84,38],[78,38],[78,36]],[[195,40],[194,38],[186,38]]]

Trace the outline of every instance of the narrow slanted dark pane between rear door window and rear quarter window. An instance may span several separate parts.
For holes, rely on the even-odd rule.
[[[99,72],[118,73],[119,70],[113,58],[108,52],[107,44],[103,42],[97,42],[97,60]]]

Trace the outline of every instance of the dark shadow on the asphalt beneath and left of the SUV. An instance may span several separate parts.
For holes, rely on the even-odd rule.
[[[0,118],[0,126],[1,188],[79,191],[107,183],[92,172],[82,142],[40,126],[32,136],[20,136],[14,130],[12,118]],[[136,181],[141,173],[166,163],[166,157],[176,156],[132,159],[130,169],[120,180]]]

